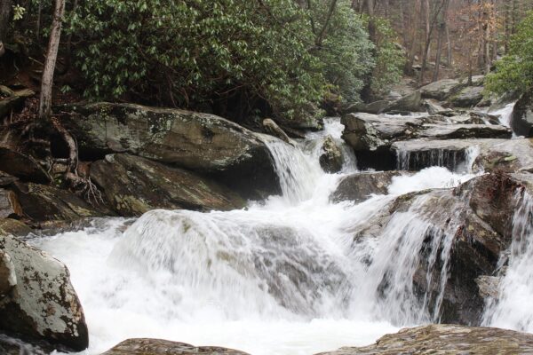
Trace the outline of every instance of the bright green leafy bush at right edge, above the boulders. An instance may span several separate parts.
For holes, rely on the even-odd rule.
[[[508,54],[497,61],[496,72],[488,75],[486,87],[497,94],[533,90],[533,12],[521,21]]]

